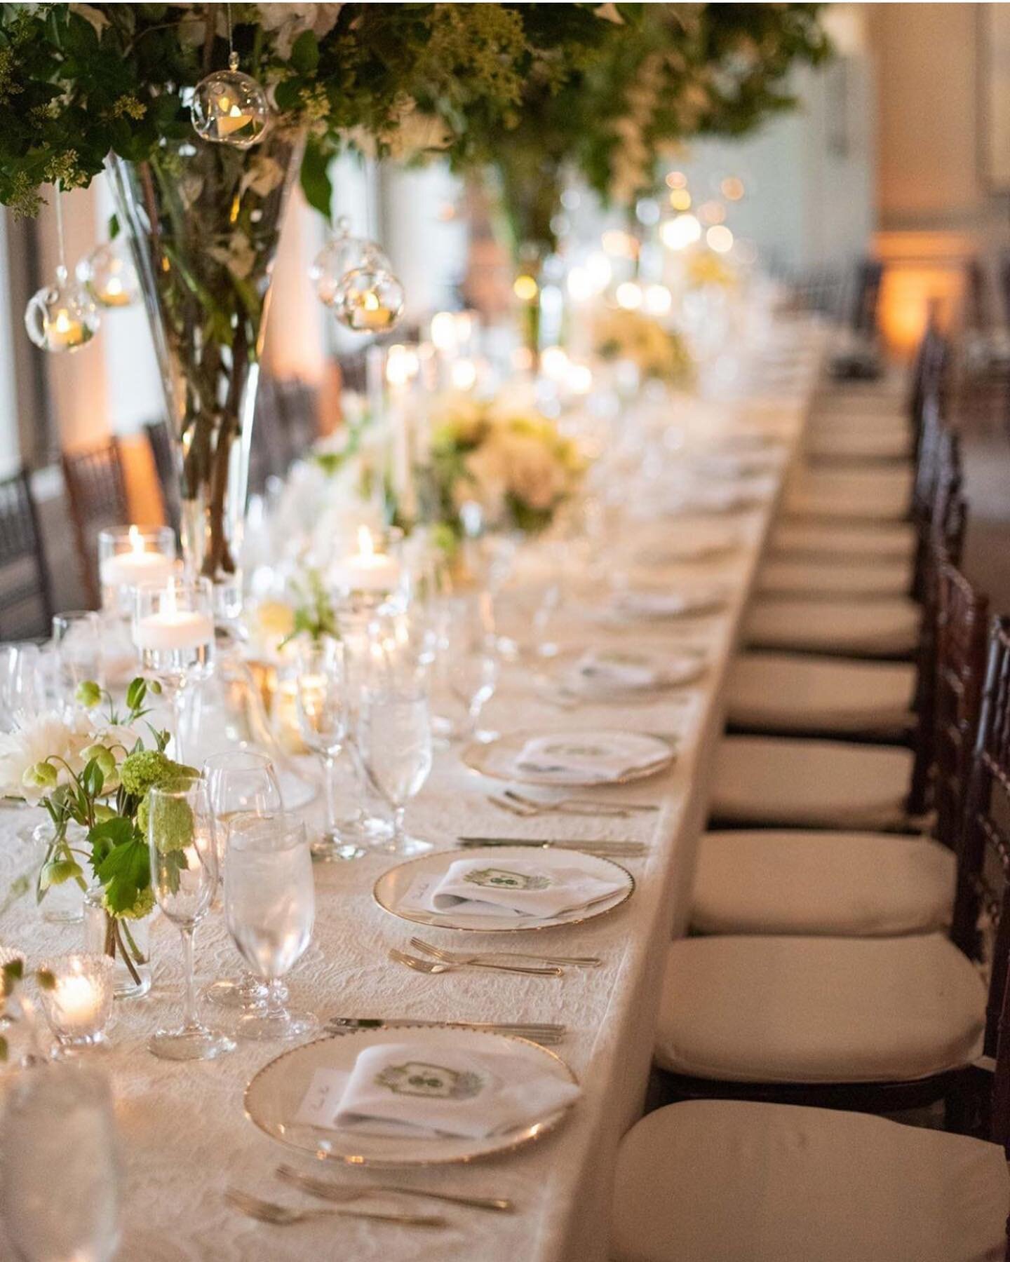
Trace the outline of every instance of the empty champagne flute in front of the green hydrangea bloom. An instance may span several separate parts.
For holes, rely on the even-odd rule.
[[[211,910],[217,888],[215,820],[203,779],[181,777],[149,791],[148,846],[154,896],[182,935],[186,968],[183,1023],[158,1030],[148,1049],[165,1060],[212,1060],[232,1051],[235,1041],[197,1017],[193,933]]]

